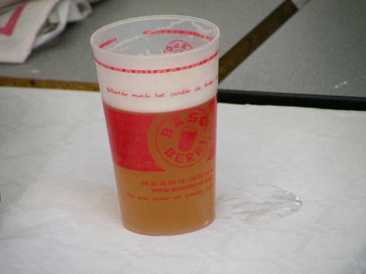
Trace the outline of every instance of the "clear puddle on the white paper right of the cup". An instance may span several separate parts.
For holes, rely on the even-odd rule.
[[[294,193],[271,185],[234,189],[216,199],[216,217],[261,223],[290,216],[301,209]]]

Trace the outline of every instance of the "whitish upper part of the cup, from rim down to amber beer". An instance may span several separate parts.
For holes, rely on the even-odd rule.
[[[215,25],[185,16],[148,16],[105,26],[91,38],[103,101],[144,113],[208,101],[217,92],[218,40]]]

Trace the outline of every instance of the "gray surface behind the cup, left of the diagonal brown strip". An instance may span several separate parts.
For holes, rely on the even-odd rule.
[[[68,25],[52,43],[34,50],[22,65],[0,64],[0,75],[97,82],[90,36],[100,27],[136,16],[181,14],[205,18],[220,31],[222,55],[275,9],[282,0],[104,0],[84,21]],[[37,74],[32,70],[39,70]]]

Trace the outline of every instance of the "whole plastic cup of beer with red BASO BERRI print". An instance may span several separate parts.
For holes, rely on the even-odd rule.
[[[91,37],[125,228],[174,235],[215,216],[219,30],[148,16]]]

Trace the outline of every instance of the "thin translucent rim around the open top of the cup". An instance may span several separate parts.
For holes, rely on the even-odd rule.
[[[90,37],[90,44],[93,47],[94,50],[99,51],[100,53],[103,52],[103,54],[108,54],[111,56],[115,56],[115,57],[119,57],[119,58],[128,58],[128,59],[163,59],[163,58],[172,58],[172,54],[160,54],[160,55],[128,55],[128,54],[120,54],[120,53],[116,53],[116,52],[112,52],[112,51],[108,51],[106,49],[101,48],[99,45],[96,45],[93,42],[93,38],[100,34],[101,32],[104,32],[110,28],[116,27],[116,26],[120,26],[126,23],[132,23],[132,22],[137,22],[137,21],[143,21],[143,20],[147,20],[147,19],[191,19],[191,20],[195,20],[195,21],[200,21],[200,22],[205,22],[209,25],[211,25],[212,27],[214,27],[217,30],[217,34],[214,38],[212,38],[211,41],[209,41],[209,43],[203,45],[203,46],[199,46],[196,48],[193,48],[191,50],[187,50],[187,51],[182,51],[182,52],[177,52],[174,53],[174,57],[184,57],[186,55],[191,55],[194,54],[197,51],[202,51],[206,48],[211,47],[212,45],[214,45],[219,37],[220,37],[220,30],[219,28],[211,23],[208,20],[202,19],[202,18],[198,18],[198,17],[192,17],[192,16],[184,16],[184,15],[151,15],[151,16],[140,16],[140,17],[133,17],[133,18],[129,18],[129,19],[125,19],[125,20],[120,20],[120,21],[116,21],[113,23],[110,23],[108,25],[105,25],[104,27],[96,30],[92,36]]]

